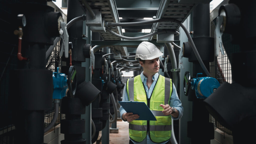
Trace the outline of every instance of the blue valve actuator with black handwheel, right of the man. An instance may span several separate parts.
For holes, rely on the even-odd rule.
[[[191,87],[191,89],[195,89],[198,99],[206,99],[220,86],[220,83],[212,77],[198,77],[199,74],[202,73],[198,73],[196,78],[190,78],[189,72],[185,73],[184,93],[187,96],[188,90]]]

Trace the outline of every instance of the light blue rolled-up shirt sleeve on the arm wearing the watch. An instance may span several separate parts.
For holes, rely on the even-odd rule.
[[[181,101],[179,100],[179,97],[178,97],[178,94],[177,94],[177,90],[175,88],[175,86],[173,85],[173,92],[172,92],[172,96],[170,98],[170,107],[174,107],[178,110],[179,112],[179,116],[177,118],[172,117],[173,120],[178,120],[182,117],[183,115],[183,107],[182,107],[182,104],[181,104]]]

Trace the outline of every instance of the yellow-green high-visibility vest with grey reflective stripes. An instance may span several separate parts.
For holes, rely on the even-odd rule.
[[[159,143],[170,139],[172,133],[172,118],[163,114],[160,104],[169,104],[172,95],[172,80],[159,75],[150,98],[147,98],[145,87],[140,75],[126,82],[129,101],[142,101],[150,108],[157,121],[133,120],[129,123],[130,138],[141,142],[149,131],[150,139]]]

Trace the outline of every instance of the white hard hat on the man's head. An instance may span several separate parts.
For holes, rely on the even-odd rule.
[[[163,53],[154,44],[144,41],[138,46],[135,59],[151,60],[162,55]]]

